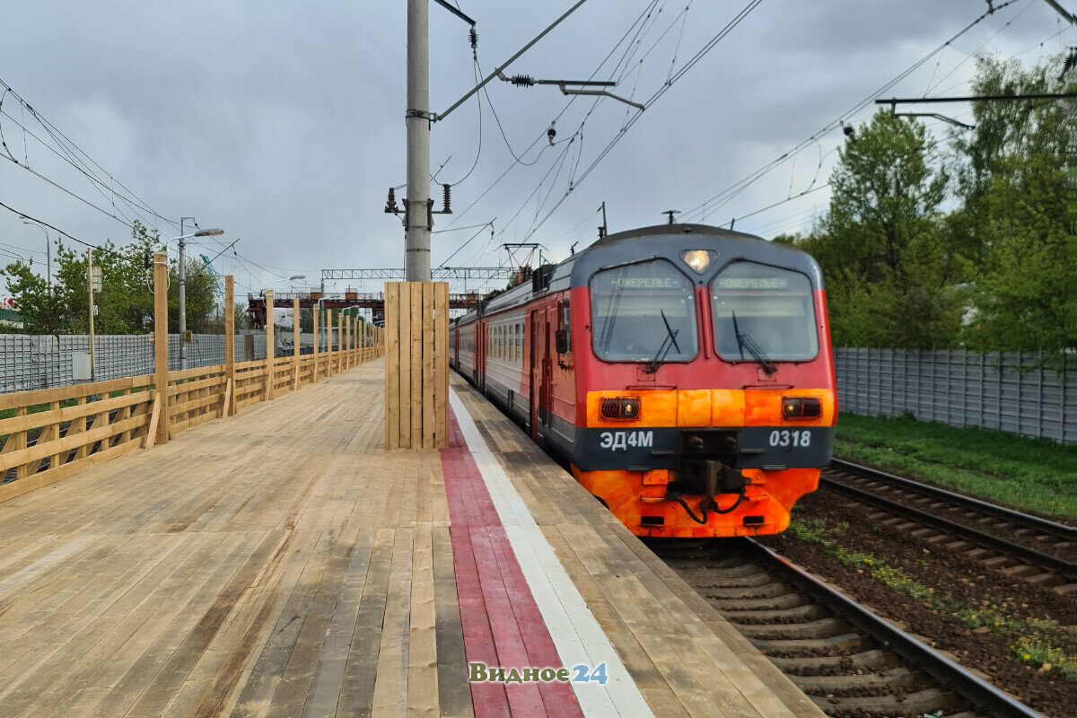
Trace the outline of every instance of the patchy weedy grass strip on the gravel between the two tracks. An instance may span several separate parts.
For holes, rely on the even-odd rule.
[[[937,595],[931,587],[911,578],[897,566],[889,565],[870,553],[847,549],[837,538],[847,529],[845,523],[831,526],[825,519],[806,518],[795,511],[789,522],[789,533],[800,540],[820,546],[824,553],[842,564],[868,574],[917,603],[948,613],[969,630],[987,629],[1003,636],[1013,660],[1044,671],[1055,671],[1065,680],[1077,682],[1077,629],[1060,627],[1055,621],[1016,619],[1005,605],[985,602],[983,605],[954,605],[950,596]]]

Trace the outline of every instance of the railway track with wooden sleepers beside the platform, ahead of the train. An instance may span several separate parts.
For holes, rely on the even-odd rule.
[[[828,715],[1040,717],[755,541],[649,547]]]

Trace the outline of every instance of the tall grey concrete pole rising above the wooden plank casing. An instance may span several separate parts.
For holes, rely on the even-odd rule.
[[[407,3],[407,213],[404,277],[430,281],[430,0]]]

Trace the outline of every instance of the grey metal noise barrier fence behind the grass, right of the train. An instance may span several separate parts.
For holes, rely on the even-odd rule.
[[[840,410],[1077,442],[1077,356],[836,349]]]

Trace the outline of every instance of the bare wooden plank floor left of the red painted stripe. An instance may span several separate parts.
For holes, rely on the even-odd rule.
[[[381,372],[0,504],[0,716],[471,716],[440,460],[378,448]]]

